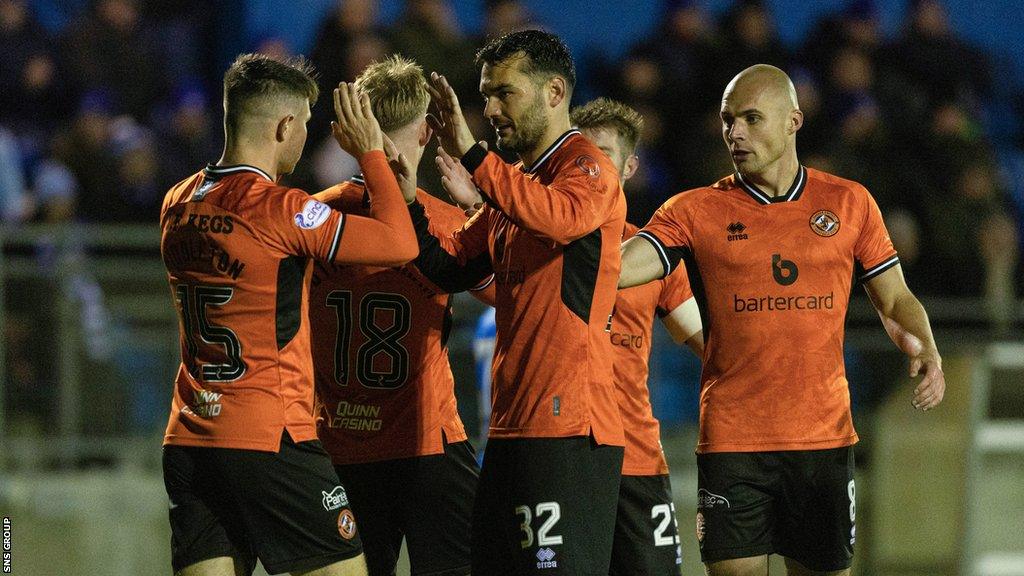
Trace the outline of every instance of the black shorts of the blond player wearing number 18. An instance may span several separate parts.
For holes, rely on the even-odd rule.
[[[402,537],[414,575],[469,574],[479,468],[468,442],[433,456],[335,466],[348,490],[370,576],[391,576]]]

